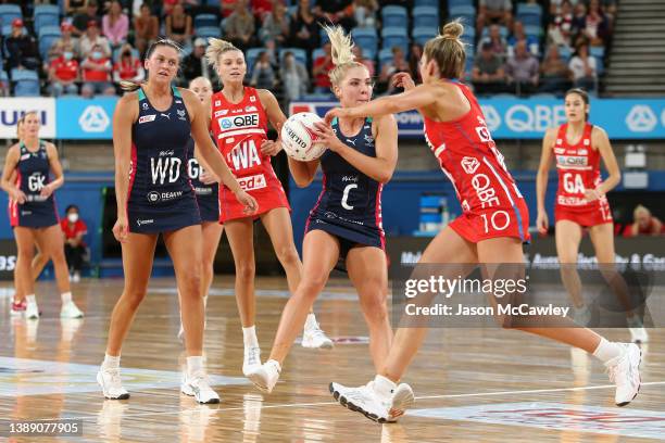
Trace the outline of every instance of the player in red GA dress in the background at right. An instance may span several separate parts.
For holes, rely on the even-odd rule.
[[[556,254],[562,264],[561,277],[575,305],[575,319],[586,325],[591,313],[584,304],[581,281],[577,273],[577,254],[584,229],[589,230],[601,274],[619,300],[628,300],[628,287],[616,271],[614,260],[614,224],[605,194],[620,181],[620,172],[612,151],[607,134],[588,122],[589,96],[582,89],[570,89],[565,96],[567,123],[548,129],[542,140],[542,154],[536,178],[538,218],[541,232],[549,227],[544,207],[548,175],[552,159],[556,160],[559,189],[554,205]],[[601,179],[601,159],[607,168],[607,178]],[[628,327],[632,341],[649,340],[639,316],[627,308]]]

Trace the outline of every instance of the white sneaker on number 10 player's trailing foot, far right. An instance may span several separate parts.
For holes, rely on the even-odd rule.
[[[626,406],[640,391],[640,362],[642,352],[637,344],[619,343],[624,349],[622,355],[605,364],[610,380],[616,384],[614,402],[617,406]]]

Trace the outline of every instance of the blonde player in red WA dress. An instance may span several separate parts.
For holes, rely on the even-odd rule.
[[[248,217],[228,189],[219,189],[219,221],[224,224],[236,264],[236,301],[244,342],[242,372],[247,375],[261,365],[254,325],[254,218],[261,218],[271,236],[291,293],[296,292],[302,271],[293,244],[289,202],[271,165],[271,155],[279,152],[281,143],[267,138],[268,122],[279,134],[286,116],[271,91],[242,85],[247,65],[238,48],[216,38],[209,39],[209,43],[205,55],[222,81],[222,90],[212,97],[212,131],[240,186],[259,202],[259,213]],[[332,347],[313,313],[305,322],[302,345]]]

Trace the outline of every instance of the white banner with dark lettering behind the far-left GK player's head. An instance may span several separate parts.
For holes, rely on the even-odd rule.
[[[36,111],[41,119],[42,138],[55,138],[55,99],[41,97],[0,99],[0,138],[15,139],[16,123],[29,111]]]

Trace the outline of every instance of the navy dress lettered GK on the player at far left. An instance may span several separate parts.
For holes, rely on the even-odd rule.
[[[41,197],[41,190],[51,180],[51,165],[46,150],[46,143],[39,141],[39,148],[30,152],[22,141],[18,145],[21,156],[16,165],[16,185],[25,193],[26,201],[18,204],[10,199],[10,221],[12,227],[46,228],[58,225],[58,211],[53,194]]]

